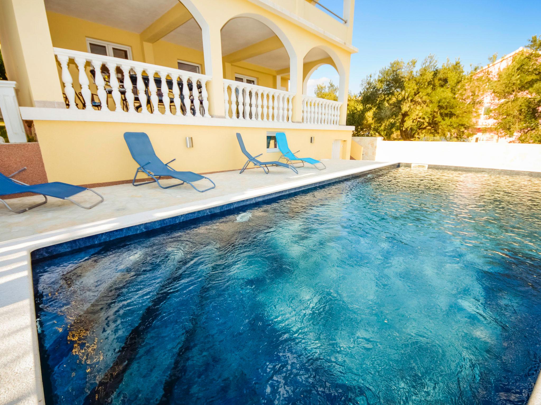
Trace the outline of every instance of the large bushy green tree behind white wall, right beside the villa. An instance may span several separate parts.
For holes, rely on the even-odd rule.
[[[472,135],[482,86],[459,60],[438,66],[431,55],[417,65],[415,59],[395,60],[378,77],[364,80],[359,95],[350,96],[348,103],[348,125],[355,125],[355,135],[403,140]]]

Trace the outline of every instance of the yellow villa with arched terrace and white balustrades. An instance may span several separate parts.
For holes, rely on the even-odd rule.
[[[176,170],[199,173],[242,166],[236,132],[268,160],[280,156],[275,132],[307,156],[350,158],[354,0],[337,17],[307,0],[0,4],[15,82],[2,91],[15,91],[21,116],[4,120],[12,142],[37,138],[48,181],[130,179],[127,131],[146,132],[158,156],[174,151]],[[324,64],[340,76],[337,102],[307,95]]]

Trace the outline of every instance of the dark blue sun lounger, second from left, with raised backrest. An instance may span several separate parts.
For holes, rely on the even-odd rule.
[[[137,167],[137,170],[135,171],[135,176],[131,184],[134,186],[142,186],[143,184],[149,184],[156,182],[161,188],[171,188],[175,186],[180,186],[181,184],[188,183],[190,186],[192,186],[195,190],[199,191],[200,193],[204,191],[211,190],[212,188],[216,187],[216,184],[214,184],[214,181],[210,180],[208,177],[201,176],[201,174],[197,174],[194,172],[178,172],[174,170],[171,166],[169,166],[169,163],[175,161],[176,159],[173,159],[171,161],[168,161],[167,163],[163,163],[154,152],[154,148],[152,147],[152,144],[150,143],[150,139],[148,139],[148,135],[144,132],[126,132],[124,133],[124,140],[126,140],[126,144],[128,145],[128,149],[130,150],[131,157],[134,158],[134,160],[137,162],[139,167]],[[147,176],[151,177],[153,180],[151,181],[145,181],[144,183],[138,183],[135,184],[135,179],[137,178],[137,174],[139,172],[147,174]],[[174,179],[180,180],[182,183],[173,184],[172,186],[164,187],[160,184],[160,179],[163,176],[169,176],[173,177]],[[212,187],[205,188],[204,190],[199,190],[199,188],[195,187],[192,183],[195,181],[207,179],[212,183]]]

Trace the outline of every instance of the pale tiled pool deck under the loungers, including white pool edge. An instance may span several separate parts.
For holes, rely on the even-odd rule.
[[[198,193],[188,185],[168,190],[155,184],[99,187],[95,190],[105,201],[91,210],[53,198],[23,214],[0,207],[0,404],[44,404],[31,283],[31,251],[397,163],[326,160],[325,164],[327,170],[304,167],[298,175],[275,167],[268,175],[260,169],[248,170],[242,175],[237,171],[209,174],[216,188],[205,193]],[[173,182],[164,180],[164,184]],[[84,203],[95,201],[91,200],[95,195],[87,198],[76,197]],[[18,208],[39,200],[39,197],[25,197],[8,201]],[[541,405],[541,383],[536,384],[529,404]]]

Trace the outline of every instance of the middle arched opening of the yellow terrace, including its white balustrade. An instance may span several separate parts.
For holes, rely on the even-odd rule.
[[[283,32],[265,17],[241,15],[229,19],[220,35],[226,117],[291,119],[295,56]]]

